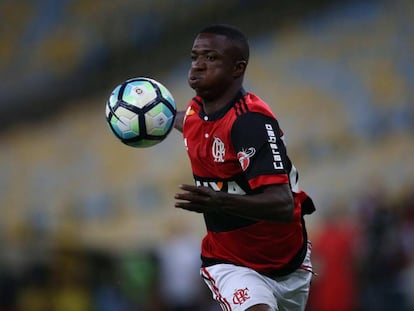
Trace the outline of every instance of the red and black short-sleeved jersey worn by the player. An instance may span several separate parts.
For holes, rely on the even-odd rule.
[[[296,268],[306,252],[301,210],[306,195],[269,106],[242,89],[224,109],[206,115],[196,96],[187,106],[183,137],[196,185],[245,195],[266,185],[289,184],[295,199],[290,223],[204,213],[203,264],[227,262],[270,275]]]

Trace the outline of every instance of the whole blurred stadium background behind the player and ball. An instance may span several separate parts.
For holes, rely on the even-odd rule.
[[[249,35],[246,88],[318,206],[308,310],[413,310],[413,20],[411,0],[0,0],[0,310],[218,310],[188,268],[202,219],[173,208],[180,135],[133,149],[104,120],[136,76],[183,108],[212,22]]]

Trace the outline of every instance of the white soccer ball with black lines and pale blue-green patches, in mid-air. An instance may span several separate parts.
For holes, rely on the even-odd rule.
[[[164,85],[140,77],[115,87],[105,112],[109,128],[121,142],[146,148],[167,137],[173,128],[177,107]]]

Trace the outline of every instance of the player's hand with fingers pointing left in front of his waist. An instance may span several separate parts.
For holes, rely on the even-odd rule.
[[[208,187],[180,185],[185,192],[177,193],[175,199],[182,200],[175,203],[175,207],[196,213],[204,213],[217,208],[220,202],[220,192]]]

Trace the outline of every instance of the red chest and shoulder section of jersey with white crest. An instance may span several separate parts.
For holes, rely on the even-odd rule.
[[[243,163],[238,154],[240,151],[235,150],[232,143],[234,123],[248,112],[274,116],[255,95],[241,94],[244,95],[215,115],[204,114],[200,98],[196,97],[190,102],[183,136],[195,176],[225,180],[243,174]],[[244,159],[248,156],[247,150]]]

